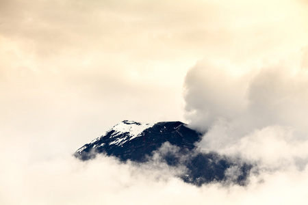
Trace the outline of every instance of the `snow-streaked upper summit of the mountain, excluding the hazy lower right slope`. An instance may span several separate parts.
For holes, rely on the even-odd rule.
[[[193,131],[183,122],[158,122],[142,124],[124,120],[113,126],[101,137],[77,150],[75,156],[82,160],[91,159],[93,153],[105,153],[118,156],[121,160],[144,161],[163,143],[192,150],[194,143],[201,139],[201,134]],[[136,148],[138,147],[138,150]]]

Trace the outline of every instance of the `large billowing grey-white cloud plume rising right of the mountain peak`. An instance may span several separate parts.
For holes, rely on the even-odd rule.
[[[256,162],[260,176],[305,172],[305,61],[305,48],[275,64],[239,72],[230,62],[199,61],[186,77],[185,99],[190,126],[206,132],[199,143],[201,150]]]

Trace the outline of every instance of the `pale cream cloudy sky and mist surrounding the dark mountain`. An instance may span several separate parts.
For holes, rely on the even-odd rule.
[[[305,0],[0,0],[0,204],[304,204],[307,34]],[[188,123],[259,173],[71,156],[122,120]]]

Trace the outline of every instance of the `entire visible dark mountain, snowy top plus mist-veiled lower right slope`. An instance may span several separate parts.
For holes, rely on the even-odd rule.
[[[142,124],[124,120],[101,137],[79,148],[74,155],[83,161],[94,159],[97,154],[106,154],[116,156],[120,161],[144,163],[151,160],[154,153],[158,153],[162,163],[187,168],[187,173],[179,176],[185,182],[201,185],[229,180],[225,173],[229,173],[229,169],[237,169],[238,176],[232,176],[232,180],[244,184],[251,165],[235,163],[213,152],[196,150],[195,144],[201,140],[201,136],[201,133],[188,128],[183,122]],[[166,146],[173,149],[162,149]]]

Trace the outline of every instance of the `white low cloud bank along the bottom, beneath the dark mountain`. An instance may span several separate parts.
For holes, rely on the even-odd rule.
[[[73,157],[19,167],[1,175],[1,204],[301,204],[307,200],[307,169],[264,172],[246,187],[196,187],[175,170],[154,163],[134,165],[101,156]],[[16,172],[16,169],[14,169]],[[4,187],[3,187],[4,186]]]

